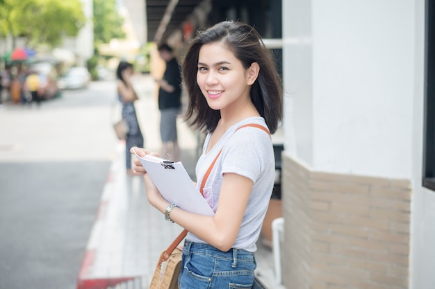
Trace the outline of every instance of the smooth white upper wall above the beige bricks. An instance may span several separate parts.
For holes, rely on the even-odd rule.
[[[294,157],[328,172],[411,177],[413,3],[283,1]]]

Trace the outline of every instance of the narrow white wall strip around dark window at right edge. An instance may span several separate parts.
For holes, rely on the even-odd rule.
[[[421,186],[424,99],[425,1],[416,1],[416,63],[413,91],[413,198],[411,207],[411,289],[435,288],[435,192]]]

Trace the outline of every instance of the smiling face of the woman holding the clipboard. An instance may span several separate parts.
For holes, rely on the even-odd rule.
[[[250,101],[247,69],[222,43],[202,45],[199,50],[197,83],[213,110]]]

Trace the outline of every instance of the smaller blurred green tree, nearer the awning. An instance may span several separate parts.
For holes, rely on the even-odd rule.
[[[113,38],[125,36],[124,19],[117,12],[115,0],[94,0],[94,43],[108,43]]]

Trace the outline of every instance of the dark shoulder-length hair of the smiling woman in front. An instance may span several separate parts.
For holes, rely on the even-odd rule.
[[[199,50],[202,45],[213,42],[223,43],[232,51],[243,67],[248,69],[253,62],[260,67],[258,78],[251,87],[251,100],[265,119],[270,132],[276,132],[282,120],[282,86],[272,53],[251,26],[238,21],[223,21],[200,32],[188,47],[183,59],[183,82],[189,94],[186,119],[193,119],[192,125],[213,132],[220,120],[220,110],[211,109],[197,85]]]

